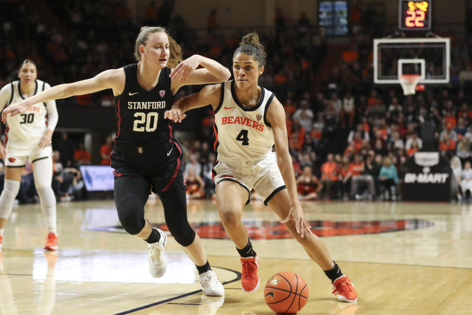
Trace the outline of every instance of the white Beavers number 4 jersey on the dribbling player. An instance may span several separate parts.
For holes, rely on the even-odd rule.
[[[215,151],[218,160],[261,159],[272,151],[274,136],[266,120],[274,94],[261,87],[253,108],[244,108],[236,98],[235,81],[221,84],[220,103],[215,109]]]

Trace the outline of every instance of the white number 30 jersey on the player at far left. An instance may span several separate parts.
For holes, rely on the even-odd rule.
[[[21,94],[20,81],[13,81],[13,93],[11,101],[7,106],[16,102],[22,101],[26,97]],[[35,80],[36,93],[48,89],[49,85],[41,80]],[[31,95],[32,96],[32,95]],[[6,135],[5,142],[9,151],[24,151],[28,148],[35,147],[41,141],[41,138],[46,133],[46,104],[37,103],[29,106],[29,108],[22,114],[6,119]]]

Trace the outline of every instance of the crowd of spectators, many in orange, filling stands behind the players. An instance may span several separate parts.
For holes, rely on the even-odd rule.
[[[89,78],[105,69],[135,62],[132,51],[143,21],[133,19],[124,1],[85,0],[60,5],[53,5],[59,3],[57,0],[46,2],[56,17],[48,28],[41,27],[34,12],[10,4],[22,18],[7,26],[3,24],[0,31],[1,85],[12,79],[8,76],[25,58],[36,61],[39,76],[51,85]],[[164,1],[159,8],[150,2],[145,22],[167,21],[165,25],[177,42],[183,43],[184,57],[201,54],[231,66],[242,33],[218,32],[217,12],[208,10],[207,36],[198,37],[173,10],[172,0]],[[323,31],[310,23],[306,14],[289,21],[279,10],[274,28],[256,30],[268,52],[259,84],[273,91],[284,105],[300,199],[401,198],[403,164],[421,150],[422,126],[430,120],[435,126],[435,149],[451,161],[461,184],[458,194],[470,195],[472,37],[442,34],[452,39],[451,83],[426,86],[424,92],[404,96],[400,86],[374,86],[372,38],[386,35],[387,31],[362,25],[364,19],[359,10],[356,7],[351,18],[360,29],[350,37],[339,63],[331,68],[323,65]],[[27,31],[21,34],[18,30]],[[22,39],[25,36],[36,39]],[[320,82],[324,73],[329,76]],[[199,88],[186,87],[178,96]],[[113,95],[104,91],[62,102],[111,106]],[[211,198],[211,169],[216,160],[212,149],[214,117],[208,108],[194,112],[192,116],[198,117],[194,132],[197,139],[181,141],[188,195]],[[80,172],[70,168],[89,163],[90,154],[83,144],[71,144],[66,135],[62,136],[65,138],[54,144],[55,191],[59,196],[82,198]],[[110,138],[100,149],[102,164],[109,164],[111,149]]]

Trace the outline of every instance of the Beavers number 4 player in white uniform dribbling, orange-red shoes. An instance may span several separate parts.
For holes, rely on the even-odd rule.
[[[344,302],[357,299],[353,284],[314,235],[298,201],[295,172],[289,153],[285,112],[274,95],[258,86],[266,53],[255,33],[243,37],[233,56],[235,81],[209,85],[200,93],[177,100],[165,116],[181,122],[186,111],[211,104],[215,112],[218,159],[213,169],[216,207],[226,233],[241,256],[241,285],[246,292],[259,286],[259,257],[254,252],[241,215],[249,192],[255,189],[310,258],[333,284]],[[272,145],[275,144],[275,153]]]

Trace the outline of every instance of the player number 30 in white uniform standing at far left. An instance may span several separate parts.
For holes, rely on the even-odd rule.
[[[10,104],[50,88],[49,84],[36,77],[36,65],[29,59],[25,60],[18,72],[19,80],[5,85],[0,90],[0,111]],[[33,165],[34,186],[48,227],[44,248],[58,249],[56,196],[51,187],[51,138],[58,118],[56,102],[51,100],[33,104],[21,115],[8,117],[6,121],[4,146],[0,144],[0,158],[5,160],[5,183],[0,195],[0,250],[3,230],[20,189],[21,174],[28,158]]]

